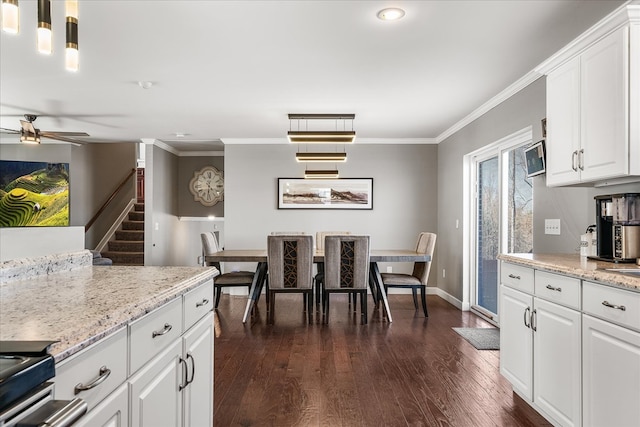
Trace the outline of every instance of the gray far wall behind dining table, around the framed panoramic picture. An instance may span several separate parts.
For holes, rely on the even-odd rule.
[[[369,234],[373,249],[413,248],[420,231],[436,230],[437,146],[348,146],[348,161],[338,164],[340,176],[373,178],[373,210],[279,210],[277,179],[304,174],[304,164],[295,161],[296,149],[225,146],[226,249],[265,249],[272,231],[304,231],[315,238],[319,230]],[[227,269],[244,268],[227,264],[232,264]],[[410,267],[390,265],[394,271]]]

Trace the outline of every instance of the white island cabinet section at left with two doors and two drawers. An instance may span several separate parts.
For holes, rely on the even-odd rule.
[[[131,427],[213,425],[212,308],[208,282],[131,325]]]

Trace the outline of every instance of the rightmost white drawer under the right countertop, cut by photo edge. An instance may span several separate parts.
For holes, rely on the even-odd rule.
[[[640,331],[640,292],[583,282],[582,311]]]

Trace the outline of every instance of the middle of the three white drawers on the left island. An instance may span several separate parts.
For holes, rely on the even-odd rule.
[[[182,298],[178,297],[133,322],[129,335],[131,375],[182,335]]]

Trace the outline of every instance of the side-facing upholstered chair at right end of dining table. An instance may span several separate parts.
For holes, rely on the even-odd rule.
[[[433,257],[433,250],[436,247],[435,233],[422,232],[418,236],[418,244],[416,252],[430,255]],[[413,272],[411,274],[402,273],[381,273],[382,285],[384,290],[389,288],[409,288],[413,294],[413,305],[418,309],[418,299],[416,292],[419,289],[422,298],[422,310],[424,316],[429,317],[427,311],[427,280],[429,279],[429,271],[431,270],[431,261],[413,263]]]

